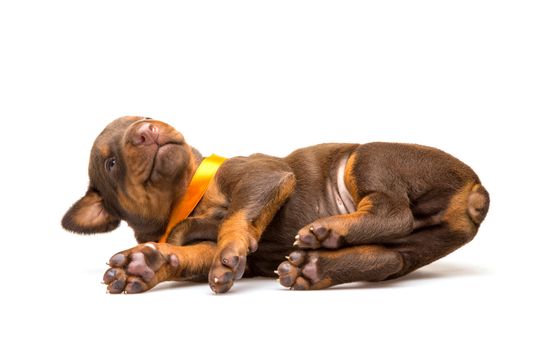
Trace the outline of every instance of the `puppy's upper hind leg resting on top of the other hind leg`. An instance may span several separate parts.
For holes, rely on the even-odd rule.
[[[408,235],[413,230],[408,202],[385,193],[364,197],[351,214],[318,219],[303,227],[295,245],[303,249],[377,244]]]

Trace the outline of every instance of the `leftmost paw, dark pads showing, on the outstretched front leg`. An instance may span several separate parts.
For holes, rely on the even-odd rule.
[[[145,243],[117,253],[103,275],[109,293],[142,293],[173,275],[178,257],[160,251],[161,244]]]

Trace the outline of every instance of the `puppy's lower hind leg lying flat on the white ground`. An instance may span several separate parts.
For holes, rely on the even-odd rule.
[[[278,266],[280,284],[308,290],[356,281],[382,281],[403,268],[402,256],[378,245],[336,251],[298,250]]]

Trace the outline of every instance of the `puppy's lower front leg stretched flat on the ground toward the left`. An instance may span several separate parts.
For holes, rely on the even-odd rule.
[[[204,280],[216,252],[214,243],[191,246],[145,243],[109,260],[103,281],[110,293],[141,293],[163,281]]]

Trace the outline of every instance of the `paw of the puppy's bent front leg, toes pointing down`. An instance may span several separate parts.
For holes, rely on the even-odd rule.
[[[233,242],[218,251],[209,273],[209,286],[214,293],[225,293],[246,269],[246,248]]]

